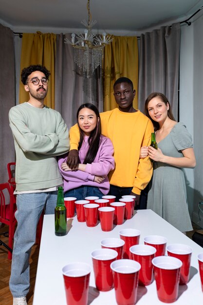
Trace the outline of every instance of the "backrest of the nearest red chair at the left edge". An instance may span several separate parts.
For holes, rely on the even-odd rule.
[[[0,222],[14,218],[16,198],[8,182],[0,183]]]

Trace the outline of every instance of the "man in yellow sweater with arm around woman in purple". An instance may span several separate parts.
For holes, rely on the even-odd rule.
[[[149,146],[153,125],[148,117],[132,106],[135,96],[132,81],[118,78],[113,85],[118,108],[100,114],[102,134],[109,137],[114,147],[115,169],[109,173],[110,193],[116,201],[123,195],[135,195],[139,206],[140,193],[152,176],[149,158],[140,159],[140,148]],[[77,164],[79,133],[77,125],[70,129],[71,151],[67,164]]]

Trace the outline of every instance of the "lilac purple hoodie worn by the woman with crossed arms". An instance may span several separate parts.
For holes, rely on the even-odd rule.
[[[79,158],[81,163],[84,162],[85,156],[89,149],[88,144],[89,136],[84,137],[84,141],[79,150]],[[108,194],[110,190],[110,183],[108,179],[108,173],[115,167],[113,154],[113,145],[111,140],[104,135],[100,136],[100,145],[94,162],[87,164],[85,172],[82,171],[68,171],[65,172],[61,169],[61,164],[66,162],[66,158],[59,158],[58,166],[59,171],[63,177],[63,190],[64,192],[81,187],[91,186],[97,187],[104,194]],[[94,180],[94,176],[106,176],[102,183],[97,183]]]

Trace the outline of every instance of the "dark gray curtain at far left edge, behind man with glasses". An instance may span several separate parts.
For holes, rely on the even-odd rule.
[[[11,29],[0,24],[0,183],[8,181],[7,163],[15,162],[8,112],[16,104],[15,51]]]

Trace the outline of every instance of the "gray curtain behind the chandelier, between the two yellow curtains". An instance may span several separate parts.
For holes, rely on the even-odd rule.
[[[90,79],[74,63],[74,48],[64,43],[71,34],[56,35],[55,110],[59,111],[68,129],[76,123],[76,112],[83,103],[94,104],[103,111],[102,71],[97,68]],[[89,86],[90,82],[90,86]]]

